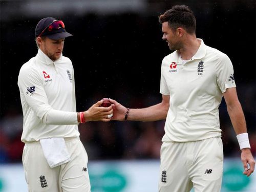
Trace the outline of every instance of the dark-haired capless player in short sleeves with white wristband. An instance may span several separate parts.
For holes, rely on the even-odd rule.
[[[159,191],[220,191],[223,148],[218,108],[223,96],[241,148],[243,174],[250,176],[255,165],[232,63],[196,37],[196,18],[187,6],[174,6],[160,15],[159,22],[163,40],[174,50],[162,60],[162,102],[126,109],[110,99],[115,104],[112,120],[166,119]]]

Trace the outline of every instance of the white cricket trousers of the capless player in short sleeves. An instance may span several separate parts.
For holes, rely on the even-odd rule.
[[[164,142],[161,146],[159,192],[218,192],[223,174],[221,138]]]

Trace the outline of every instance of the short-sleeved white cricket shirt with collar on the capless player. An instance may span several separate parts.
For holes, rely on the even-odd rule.
[[[202,39],[197,53],[182,64],[175,51],[162,61],[160,93],[170,96],[163,142],[188,142],[220,137],[222,93],[236,87],[228,56]]]

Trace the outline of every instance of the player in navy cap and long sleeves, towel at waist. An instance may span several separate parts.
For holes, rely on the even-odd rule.
[[[86,121],[110,121],[112,106],[76,112],[72,62],[62,56],[72,36],[62,20],[43,18],[35,28],[38,53],[19,71],[24,125],[23,166],[29,191],[90,191],[88,156],[78,132]]]

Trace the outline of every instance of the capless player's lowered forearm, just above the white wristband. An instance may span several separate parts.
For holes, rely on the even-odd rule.
[[[240,102],[227,106],[227,111],[236,134],[246,133],[246,122]]]

